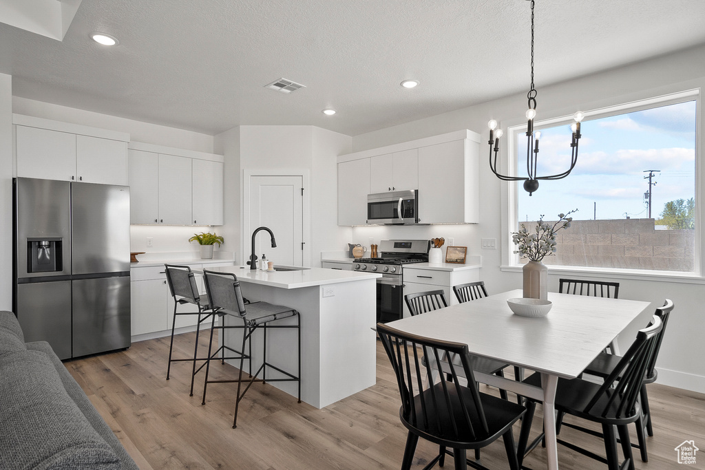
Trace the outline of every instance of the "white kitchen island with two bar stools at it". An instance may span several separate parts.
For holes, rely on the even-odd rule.
[[[376,334],[371,328],[376,320],[376,278],[381,275],[324,268],[270,273],[240,266],[221,266],[212,271],[234,273],[240,280],[243,296],[250,302],[262,300],[299,311],[302,401],[323,408],[374,385]],[[234,324],[233,320],[239,321],[226,321]],[[281,320],[285,321],[293,319]],[[242,333],[234,329],[224,333],[225,344],[239,350]],[[262,354],[261,333],[252,338],[252,369],[261,364],[258,357]],[[267,337],[269,361],[295,372],[298,358],[293,331],[270,330]],[[240,361],[231,360],[228,364],[237,367]],[[264,386],[280,388],[294,397],[297,393],[296,383],[274,382]]]

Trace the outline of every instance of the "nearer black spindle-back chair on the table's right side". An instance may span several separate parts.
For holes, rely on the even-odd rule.
[[[632,343],[629,350],[621,357],[615,369],[611,371],[602,384],[586,381],[582,378],[558,379],[556,400],[554,402],[556,411],[559,414],[570,414],[586,421],[599,423],[602,427],[602,433],[575,424],[570,424],[570,428],[601,437],[604,440],[606,457],[557,439],[559,444],[607,464],[609,470],[626,468],[633,470],[635,468],[627,426],[636,422],[637,426],[643,427],[642,411],[638,400],[639,391],[642,388],[644,373],[649,366],[650,354],[654,349],[661,330],[663,330],[663,323],[661,323],[661,319],[658,316],[654,316],[648,327],[639,330],[635,342]],[[532,374],[532,376],[525,379],[524,383],[540,387],[541,374]],[[528,398],[527,414],[522,420],[517,445],[519,464],[522,464],[525,454],[530,452],[539,440],[543,438],[543,434],[539,435],[539,438],[527,446],[535,409],[535,400]],[[568,426],[568,424],[563,423],[563,426]],[[617,428],[622,452],[625,457],[621,465],[617,452],[618,441],[615,435],[615,427]],[[559,432],[560,428],[558,423],[556,423],[556,433]]]

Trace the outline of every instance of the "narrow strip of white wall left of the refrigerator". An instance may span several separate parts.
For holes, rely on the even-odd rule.
[[[0,310],[12,310],[12,77],[0,73]]]

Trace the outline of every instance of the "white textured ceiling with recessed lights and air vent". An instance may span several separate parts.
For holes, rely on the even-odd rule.
[[[705,44],[704,24],[705,0],[537,0],[537,88]],[[0,24],[0,72],[18,97],[209,135],[359,135],[525,91],[529,2],[83,0],[63,42]],[[306,88],[264,88],[282,77]]]

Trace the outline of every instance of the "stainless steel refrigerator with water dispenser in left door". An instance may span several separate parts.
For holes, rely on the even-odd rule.
[[[13,309],[61,359],[130,346],[130,188],[15,178]]]

